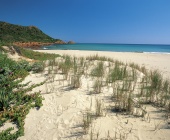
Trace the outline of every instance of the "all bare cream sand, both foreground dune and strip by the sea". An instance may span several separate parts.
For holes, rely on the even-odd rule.
[[[143,53],[117,53],[97,51],[59,51],[39,50],[39,52],[69,54],[73,56],[89,56],[98,54],[114,58],[124,63],[134,62],[145,65],[149,69],[159,69],[165,78],[170,77],[170,55],[168,54],[143,54]],[[56,62],[62,62],[58,58]],[[43,82],[44,85],[36,87],[32,92],[41,91],[44,98],[43,106],[39,109],[31,109],[25,119],[25,135],[20,140],[169,140],[170,126],[165,119],[166,112],[152,105],[146,104],[141,108],[135,108],[132,114],[124,115],[116,113],[112,99],[112,86],[104,85],[100,94],[93,94],[94,81],[90,77],[90,71],[98,62],[88,61],[89,70],[80,77],[78,88],[72,88],[72,74],[67,79],[53,67],[49,72],[46,67],[42,73],[31,73],[23,83],[31,81],[31,84]],[[109,71],[108,62],[104,62],[104,71]],[[51,73],[51,74],[50,74]],[[137,73],[137,85],[134,94],[142,83],[141,72]],[[117,84],[121,85],[121,82]],[[132,83],[133,87],[134,83]],[[144,116],[138,117],[143,114]],[[146,112],[145,112],[146,111]],[[90,114],[90,115],[89,115]],[[96,115],[97,114],[97,115]],[[89,118],[90,117],[90,118]]]

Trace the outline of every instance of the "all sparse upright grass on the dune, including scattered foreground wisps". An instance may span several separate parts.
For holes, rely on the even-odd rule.
[[[92,79],[95,96],[102,94],[106,86],[111,88],[111,99],[114,103],[112,110],[116,113],[143,117],[150,122],[150,115],[144,105],[151,104],[164,108],[167,118],[170,116],[170,82],[164,80],[157,70],[149,72],[145,67],[134,63],[124,64],[98,55],[87,58],[66,55],[61,61],[51,60],[48,67],[48,75],[53,77],[53,82],[55,79],[52,74],[55,71],[55,74],[63,75],[63,80],[70,83],[67,86],[73,88],[81,88],[82,77]],[[103,116],[104,104],[102,100],[96,99],[95,111],[86,111],[83,114],[82,126],[85,134],[89,133],[94,118]],[[91,130],[90,139],[95,137],[98,138],[99,133],[95,134]],[[127,135],[119,133],[118,136],[118,132],[115,132],[115,138],[126,139]],[[110,139],[109,132],[106,139]]]

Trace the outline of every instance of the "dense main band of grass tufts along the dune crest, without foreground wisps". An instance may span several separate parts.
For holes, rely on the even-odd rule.
[[[169,109],[169,81],[163,80],[162,75],[157,70],[149,72],[144,66],[140,67],[135,63],[124,64],[118,60],[98,55],[86,58],[66,55],[63,58],[64,61],[60,64],[60,68],[67,76],[73,74],[71,83],[74,87],[80,87],[80,79],[83,74],[86,77],[92,77],[94,93],[101,93],[104,85],[114,85],[112,86],[114,92],[112,98],[116,98],[115,109],[118,112],[132,113],[135,106],[139,107],[142,106],[140,104],[145,103]],[[91,65],[92,61],[97,61],[97,63]],[[109,62],[108,72],[106,72],[104,62]],[[84,72],[78,74],[82,68]],[[90,68],[92,69],[89,73],[87,71]],[[143,76],[140,77],[139,73],[143,73]],[[138,81],[139,79],[141,82]],[[103,82],[105,82],[104,85]],[[140,85],[141,88],[136,89],[136,85]],[[136,90],[138,90],[137,94]],[[134,101],[134,97],[139,97],[139,99]]]

